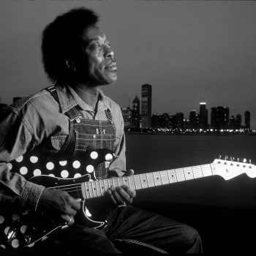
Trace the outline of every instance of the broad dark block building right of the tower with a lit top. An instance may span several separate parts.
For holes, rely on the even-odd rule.
[[[211,108],[211,127],[225,129],[229,123],[230,109],[227,107]]]

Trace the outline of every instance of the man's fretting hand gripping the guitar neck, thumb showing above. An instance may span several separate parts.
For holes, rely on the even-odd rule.
[[[134,174],[134,170],[127,170],[128,176]],[[113,203],[118,205],[124,205],[124,203],[132,203],[132,199],[136,197],[135,189],[130,189],[127,185],[122,185],[121,187],[110,187],[108,189],[108,195]]]

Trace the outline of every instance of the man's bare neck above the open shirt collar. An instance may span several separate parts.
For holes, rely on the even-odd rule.
[[[97,108],[97,102],[99,99],[99,89],[100,87],[89,87],[81,83],[77,83],[72,86],[78,96],[86,102],[87,105],[91,106],[93,110]]]

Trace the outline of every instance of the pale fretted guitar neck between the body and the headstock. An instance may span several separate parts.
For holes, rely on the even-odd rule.
[[[134,176],[115,177],[99,181],[84,182],[81,184],[81,189],[83,197],[85,199],[89,199],[105,195],[105,192],[110,187],[127,185],[131,189],[138,190],[213,175],[215,175],[215,173],[212,165],[197,165],[173,170],[161,170],[153,173],[136,174]]]

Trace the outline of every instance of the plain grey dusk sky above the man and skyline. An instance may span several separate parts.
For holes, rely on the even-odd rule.
[[[251,112],[256,129],[256,1],[0,1],[0,96],[33,94],[49,85],[42,68],[42,29],[85,6],[98,12],[118,64],[103,91],[127,107],[152,85],[152,113],[199,112],[200,101]]]

